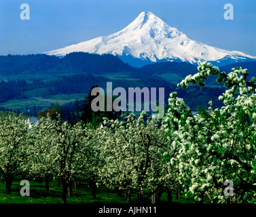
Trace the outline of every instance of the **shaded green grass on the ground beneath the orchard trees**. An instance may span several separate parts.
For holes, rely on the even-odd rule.
[[[0,203],[62,203],[61,201],[61,186],[58,186],[58,182],[53,180],[50,182],[49,192],[45,191],[45,182],[35,182],[31,180],[30,184],[30,196],[22,197],[20,195],[20,176],[14,180],[12,184],[12,194],[7,195],[5,193],[5,182],[0,180]],[[132,193],[132,203],[136,203],[135,192]],[[204,203],[207,201],[204,201]],[[117,195],[113,189],[109,189],[105,186],[100,186],[96,193],[96,199],[92,199],[90,189],[87,182],[81,182],[77,189],[73,189],[73,196],[67,197],[67,203],[127,203],[124,194]],[[151,197],[146,201],[151,203]],[[168,203],[167,194],[162,193],[162,204]],[[176,194],[172,194],[172,203],[194,203],[194,199],[186,199],[183,195],[179,199],[176,198]]]

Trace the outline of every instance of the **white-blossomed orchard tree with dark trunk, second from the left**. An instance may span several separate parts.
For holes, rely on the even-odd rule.
[[[67,191],[79,178],[82,161],[81,155],[84,127],[77,123],[70,125],[60,121],[60,115],[52,120],[50,115],[42,118],[36,127],[35,146],[31,149],[30,173],[45,178],[50,174],[59,178],[62,184],[62,202],[67,203]]]

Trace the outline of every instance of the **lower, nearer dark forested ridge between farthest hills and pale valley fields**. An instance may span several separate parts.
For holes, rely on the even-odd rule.
[[[105,77],[98,77],[91,74],[75,74],[63,75],[58,79],[43,81],[41,79],[31,79],[29,82],[18,79],[16,81],[0,81],[0,103],[8,100],[24,100],[31,97],[27,92],[35,90],[34,97],[47,98],[54,94],[75,94],[84,93],[85,96],[90,92],[92,85],[106,88],[106,83],[112,82],[113,89],[115,87],[124,87],[128,93],[128,87],[164,87],[164,97],[167,103],[168,95],[172,91],[177,91],[179,96],[187,100],[187,104],[191,106],[194,111],[198,106],[205,106],[211,98],[216,106],[222,104],[217,96],[223,91],[223,87],[200,87],[191,86],[188,89],[181,89],[174,84],[169,83],[161,78],[145,78],[140,83],[130,83],[127,80],[106,79]],[[44,88],[43,94],[37,93],[37,90]],[[1,107],[1,106],[0,106]]]

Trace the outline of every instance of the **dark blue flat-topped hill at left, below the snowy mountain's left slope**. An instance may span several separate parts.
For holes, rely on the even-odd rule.
[[[0,56],[0,75],[115,73],[130,72],[134,68],[110,55],[77,52],[63,58],[45,54]]]

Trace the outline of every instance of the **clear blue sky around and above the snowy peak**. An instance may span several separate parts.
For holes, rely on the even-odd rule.
[[[30,6],[21,20],[20,5]],[[226,3],[234,20],[225,20]],[[39,54],[110,35],[152,12],[191,39],[256,56],[255,0],[1,0],[0,55]]]

